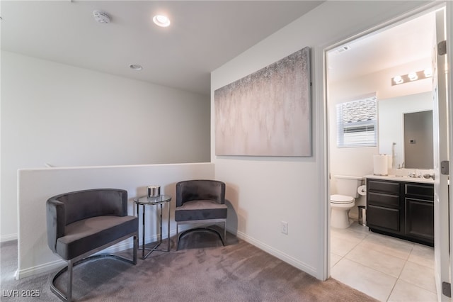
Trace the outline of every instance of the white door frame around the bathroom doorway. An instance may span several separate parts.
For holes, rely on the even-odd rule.
[[[353,40],[357,40],[357,38],[364,37],[365,35],[369,35],[371,33],[377,33],[380,30],[384,30],[389,26],[396,26],[401,23],[405,23],[410,21],[412,18],[416,18],[418,16],[422,16],[426,13],[430,13],[436,11],[437,9],[441,9],[445,7],[446,9],[446,23],[447,23],[447,55],[449,56],[449,80],[448,80],[448,91],[449,96],[448,99],[452,100],[452,87],[453,87],[453,79],[452,79],[452,61],[453,61],[453,30],[450,30],[451,26],[453,26],[453,4],[446,2],[434,2],[427,4],[425,6],[420,6],[418,9],[414,9],[408,11],[407,13],[402,13],[400,16],[396,18],[391,18],[383,23],[380,23],[378,26],[374,26],[369,28],[368,30],[362,31],[357,35],[351,35],[349,38],[343,38],[338,41],[334,41],[332,43],[328,43],[328,45],[323,45],[321,47],[315,48],[315,53],[319,54],[316,59],[316,65],[322,66],[322,74],[316,76],[316,80],[319,80],[323,83],[322,91],[316,91],[316,96],[319,96],[319,99],[323,100],[323,104],[321,106],[323,113],[322,113],[322,128],[323,128],[323,139],[318,141],[319,150],[323,150],[323,157],[320,158],[319,163],[319,171],[320,179],[319,179],[319,195],[321,196],[323,201],[326,201],[321,206],[321,219],[324,221],[323,225],[321,225],[321,233],[323,233],[323,240],[321,240],[321,245],[325,248],[323,249],[323,257],[320,259],[320,276],[321,279],[326,280],[331,276],[331,263],[330,263],[330,252],[331,252],[331,234],[330,234],[330,204],[328,203],[329,196],[330,196],[330,150],[331,145],[329,144],[329,128],[328,128],[328,82],[327,82],[327,69],[328,66],[327,62],[327,53],[340,45],[350,43]],[[318,115],[319,116],[319,115]],[[453,106],[449,106],[449,116],[453,117]],[[449,125],[449,135],[450,140],[453,142],[453,123]],[[453,148],[452,148],[453,149]],[[453,150],[449,150],[449,157],[450,161],[453,159]],[[450,164],[450,169],[453,169],[453,164]],[[450,196],[453,196],[453,189],[450,187]],[[453,217],[453,206],[452,201],[450,201],[450,217]],[[453,223],[450,223],[450,234],[453,234]],[[451,235],[450,235],[451,236]],[[453,250],[453,242],[450,240],[450,247]],[[453,272],[453,264],[450,260],[450,264],[452,265],[452,272]]]

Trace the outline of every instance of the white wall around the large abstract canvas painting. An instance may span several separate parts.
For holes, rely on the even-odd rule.
[[[417,1],[326,1],[214,70],[211,77],[211,156],[216,179],[229,184],[227,198],[237,217],[228,227],[239,237],[325,279],[328,242],[326,139],[323,110],[323,47],[361,33],[421,5]],[[214,154],[214,90],[277,62],[312,49],[313,157],[217,157]],[[280,233],[280,222],[289,233]]]

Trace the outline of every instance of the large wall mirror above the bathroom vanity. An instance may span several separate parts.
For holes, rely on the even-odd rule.
[[[408,123],[405,127],[405,120],[407,123],[411,117],[415,117],[412,119],[417,121],[417,115],[407,115],[405,118],[406,114],[423,114],[421,112],[425,112],[425,116],[431,115],[431,119]],[[420,118],[420,116],[418,117]],[[425,134],[430,133],[430,137],[418,136],[418,134],[415,137],[415,128],[423,129]],[[378,129],[379,154],[392,155],[394,169],[398,168],[398,165],[401,167],[402,164],[407,169],[432,169],[434,167],[431,91],[391,99],[378,99]],[[407,143],[406,147],[405,143]],[[427,150],[431,150],[431,152],[427,152]],[[405,151],[408,153],[407,155],[405,155]]]

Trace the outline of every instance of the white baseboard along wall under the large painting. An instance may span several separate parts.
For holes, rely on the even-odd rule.
[[[236,234],[236,236],[239,237],[240,239],[250,243],[251,245],[258,247],[260,250],[268,252],[270,255],[277,257],[278,259],[286,262],[287,264],[290,264],[293,267],[296,267],[297,269],[306,272],[307,274],[311,274],[311,276],[314,276],[315,278],[318,275],[316,269],[314,267],[311,267],[309,264],[301,262],[298,259],[295,259],[294,257],[291,257],[280,250],[276,250],[275,248],[270,247],[269,245],[266,245],[265,243],[260,242],[259,240],[256,240],[255,238],[246,235],[245,233],[239,232],[238,230],[231,230],[229,228],[226,228],[226,230],[228,230],[229,233]]]

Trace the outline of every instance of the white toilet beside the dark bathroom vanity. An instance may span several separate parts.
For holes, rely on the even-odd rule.
[[[355,206],[359,196],[357,189],[362,185],[362,177],[336,175],[337,193],[331,195],[331,226],[349,228],[349,211]]]

